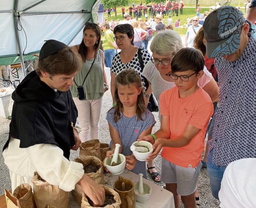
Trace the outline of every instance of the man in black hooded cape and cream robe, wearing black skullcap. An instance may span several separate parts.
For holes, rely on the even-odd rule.
[[[77,183],[96,206],[104,204],[104,189],[84,174],[82,164],[69,161],[70,149],[77,150],[81,144],[69,87],[82,63],[71,47],[48,40],[36,70],[12,93],[12,121],[3,148],[12,191],[24,182],[33,187],[31,179],[37,172],[64,191],[72,191]]]

